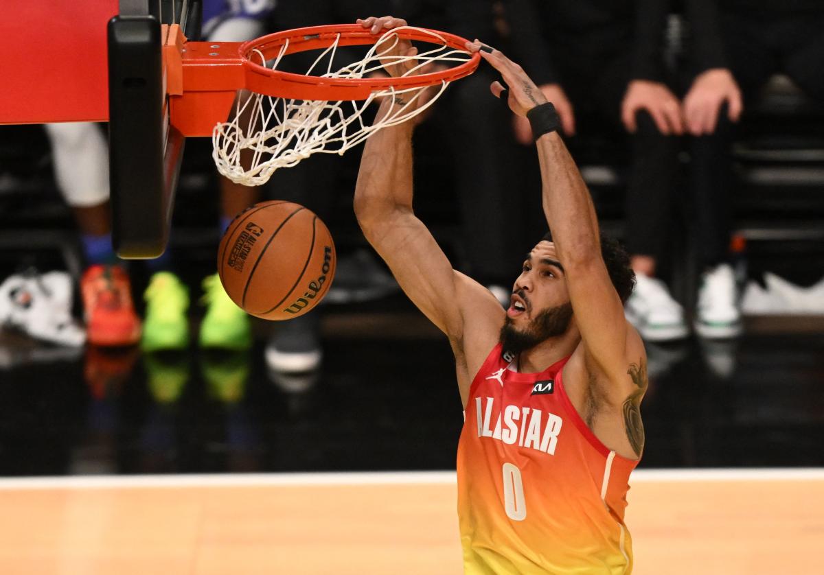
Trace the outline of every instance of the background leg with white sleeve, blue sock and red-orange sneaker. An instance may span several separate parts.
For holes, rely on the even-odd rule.
[[[73,208],[87,269],[81,279],[90,344],[124,346],[140,339],[129,274],[111,245],[109,151],[101,127],[46,124],[60,192]]]

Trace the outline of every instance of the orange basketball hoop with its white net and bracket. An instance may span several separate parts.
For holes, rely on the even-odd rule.
[[[400,39],[417,40],[432,47],[419,49],[413,57],[388,55]],[[195,100],[196,94],[190,93],[190,87],[197,87],[200,96],[211,91],[213,98],[222,97],[223,101],[227,97],[225,83],[233,84],[234,90],[250,90],[249,98],[237,100],[233,119],[212,124],[213,159],[218,171],[230,180],[260,185],[281,167],[295,166],[318,152],[343,154],[377,130],[419,115],[441,96],[450,82],[478,67],[480,57],[464,49],[465,43],[456,35],[413,26],[388,30],[382,35],[373,35],[360,25],[315,26],[267,35],[237,47],[214,44],[209,60],[205,54],[199,54],[201,44],[205,43],[177,40],[176,47],[183,48],[182,73],[177,91],[180,100],[170,97],[171,123],[184,127],[184,133],[185,126],[198,124],[197,129],[191,129],[198,131],[203,129],[204,115],[217,115],[215,110],[219,106],[204,105],[202,98]],[[339,49],[358,44],[372,46],[362,59],[333,69]],[[240,58],[226,53],[235,47]],[[284,56],[311,49],[320,49],[321,54],[306,74],[277,69]],[[414,65],[403,76],[390,77],[386,68],[403,62]],[[433,63],[448,67],[419,73]],[[218,70],[218,66],[223,70]],[[240,82],[232,72],[238,67],[243,72]],[[175,93],[174,82],[172,86],[170,95]],[[423,88],[427,87],[433,91],[431,98],[427,94],[429,99],[420,101]],[[401,94],[408,96],[404,105],[374,124],[368,121],[366,113],[373,101]],[[208,112],[204,114],[204,110]]]

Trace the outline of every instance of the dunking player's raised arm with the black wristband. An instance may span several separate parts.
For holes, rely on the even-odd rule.
[[[504,92],[499,82],[494,96],[508,98],[510,108],[527,116],[541,164],[544,212],[552,231],[555,250],[569,288],[576,325],[586,350],[588,364],[595,364],[611,381],[620,381],[617,391],[632,390],[627,371],[639,362],[643,346],[626,322],[623,305],[602,258],[600,233],[595,208],[578,167],[556,129],[559,120],[545,96],[523,69],[498,50],[486,49],[479,42],[468,47],[496,68],[508,84]]]

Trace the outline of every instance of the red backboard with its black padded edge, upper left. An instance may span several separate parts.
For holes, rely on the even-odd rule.
[[[185,138],[169,123],[163,45],[198,40],[201,0],[7,0],[0,124],[105,122],[115,250],[161,255]]]

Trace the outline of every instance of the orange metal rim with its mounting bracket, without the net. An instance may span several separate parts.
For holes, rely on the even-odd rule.
[[[452,49],[465,49],[466,40],[438,30],[405,29],[405,40],[429,44],[439,35]],[[311,26],[284,30],[248,42],[190,42],[172,26],[166,38],[166,71],[171,125],[185,137],[211,136],[215,124],[225,121],[236,91],[245,89],[264,96],[293,100],[366,100],[373,92],[433,86],[466,77],[480,63],[472,54],[466,62],[440,72],[408,77],[329,78],[281,72],[252,62],[255,50],[266,60],[275,58],[288,41],[286,54],[328,48],[339,37],[339,45],[374,44],[381,35],[359,24]]]

